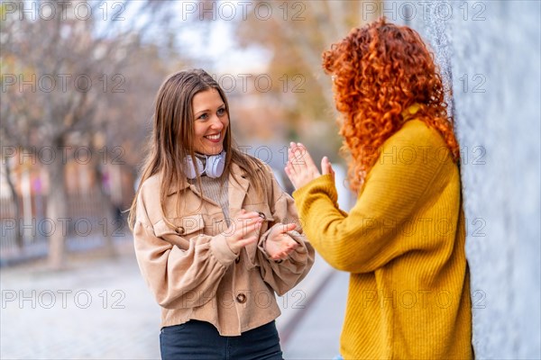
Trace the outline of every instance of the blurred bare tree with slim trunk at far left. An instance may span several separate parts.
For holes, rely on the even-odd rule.
[[[0,137],[3,144],[9,141],[25,151],[52,151],[54,158],[46,164],[51,184],[46,213],[56,229],[63,229],[69,217],[65,166],[77,156],[72,145],[96,150],[96,138],[104,133],[105,145],[119,141],[107,135],[111,121],[119,119],[115,106],[125,110],[139,95],[126,94],[124,69],[132,68],[134,59],[149,59],[149,48],[156,48],[150,40],[171,42],[169,6],[151,1],[2,4]],[[131,131],[124,126],[124,139]],[[64,243],[65,233],[53,231],[53,268],[64,264]]]

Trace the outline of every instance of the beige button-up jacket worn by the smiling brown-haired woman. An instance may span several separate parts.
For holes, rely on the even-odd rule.
[[[233,164],[228,179],[230,217],[245,209],[265,217],[258,243],[234,254],[223,237],[224,213],[212,200],[201,197],[193,184],[170,189],[164,211],[160,207],[160,177],[142,184],[137,201],[133,238],[137,261],[146,283],[162,307],[161,326],[188,320],[210,322],[222,336],[238,336],[280,315],[275,293],[283,295],[307,275],[314,248],[301,229],[289,234],[300,246],[282,262],[271,260],[264,243],[272,226],[298,221],[293,199],[266,169],[267,197],[258,198],[243,170]],[[176,202],[181,196],[181,212]],[[201,202],[202,199],[202,202]],[[202,208],[197,211],[199,205]],[[177,228],[170,229],[164,218]],[[248,234],[247,237],[252,236]]]

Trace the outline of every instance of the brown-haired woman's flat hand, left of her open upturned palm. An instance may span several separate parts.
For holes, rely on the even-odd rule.
[[[250,238],[245,238],[245,236],[260,229],[262,222],[263,219],[259,212],[246,212],[243,209],[236,219],[231,219],[231,225],[222,232],[220,236],[225,237],[225,241],[231,251],[238,254],[243,247],[254,243],[258,239],[257,236],[252,236]]]

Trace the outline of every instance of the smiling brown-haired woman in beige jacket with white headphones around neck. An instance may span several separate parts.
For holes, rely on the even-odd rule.
[[[225,93],[203,70],[160,87],[129,222],[163,359],[282,358],[275,293],[307,275],[314,249],[270,167],[234,146]]]

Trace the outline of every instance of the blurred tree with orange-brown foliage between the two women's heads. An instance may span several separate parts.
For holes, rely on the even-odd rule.
[[[289,80],[287,89],[276,88],[272,95],[281,105],[281,118],[287,119],[287,137],[311,144],[316,157],[335,154],[340,142],[329,121],[336,113],[331,79],[321,68],[322,52],[371,21],[375,12],[370,9],[362,1],[258,0],[244,19],[234,22],[239,44],[269,51],[267,71]]]

